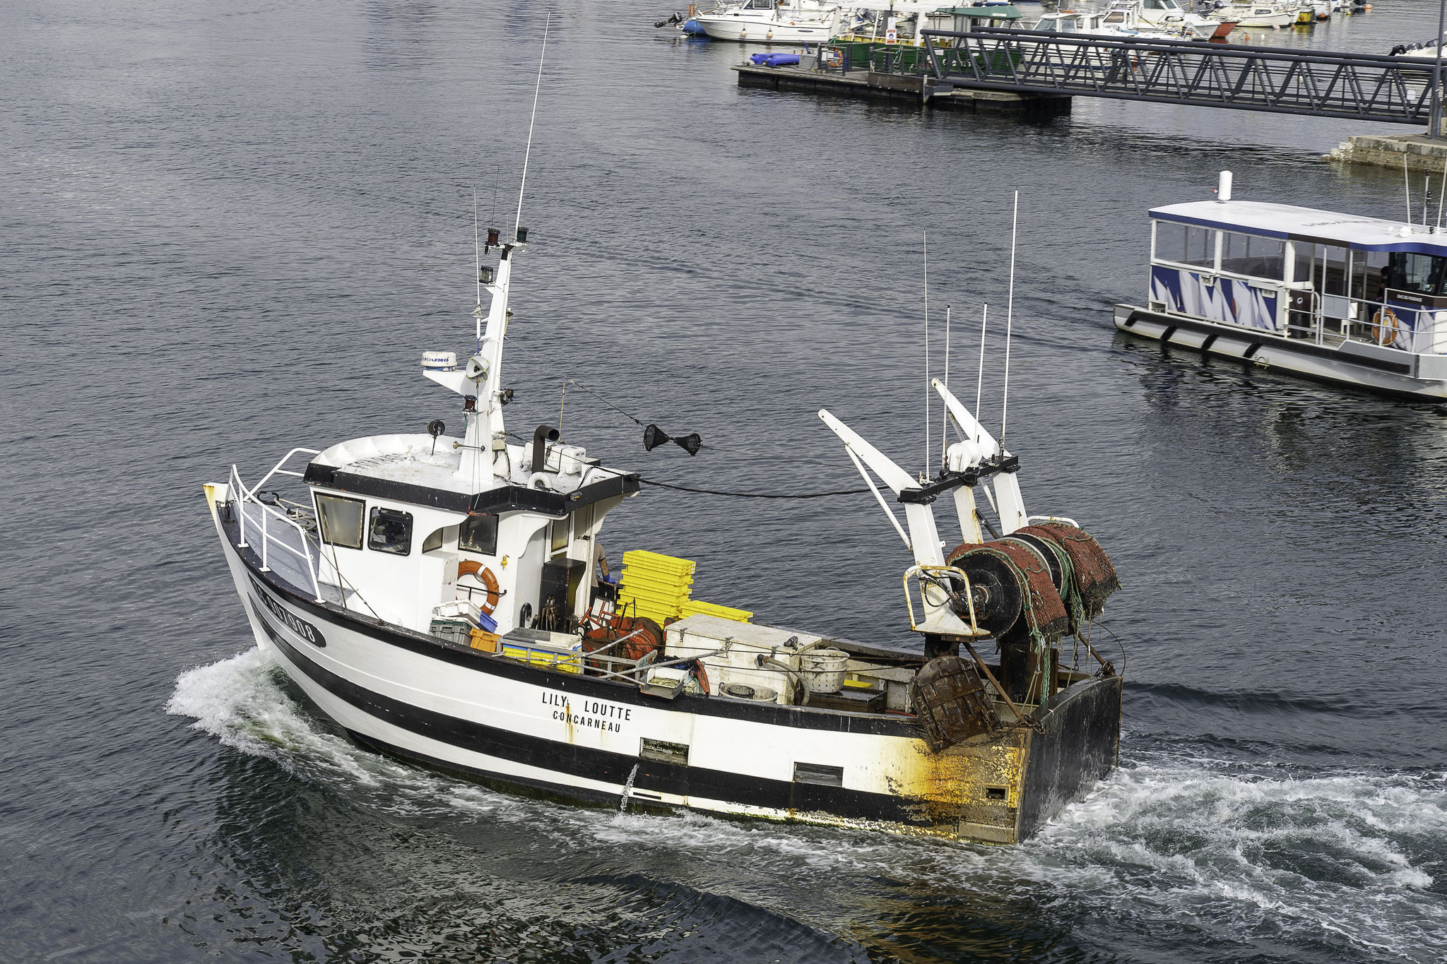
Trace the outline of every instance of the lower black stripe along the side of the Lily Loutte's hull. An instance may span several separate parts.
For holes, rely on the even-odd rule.
[[[489,727],[472,720],[462,720],[433,710],[414,707],[412,704],[359,687],[326,666],[318,665],[310,656],[300,652],[271,623],[265,610],[258,606],[252,606],[250,610],[266,630],[266,636],[276,645],[287,660],[328,694],[368,715],[449,746],[485,753],[512,763],[535,766],[566,776],[615,783],[618,786],[622,786],[628,780],[628,773],[637,765],[638,775],[634,778],[634,786],[657,793],[702,796],[770,809],[825,811],[846,818],[888,821],[915,827],[928,825],[928,821],[920,821],[910,815],[910,811],[917,804],[900,796],[851,791],[841,786],[792,783],[744,773],[729,773],[726,770],[644,760],[622,753],[559,743],[512,730]],[[504,773],[473,770],[464,765],[444,763],[443,766],[466,769],[479,776],[522,786],[532,785],[524,779],[509,778]],[[574,788],[573,795],[593,796],[596,799],[596,791],[590,792]]]

